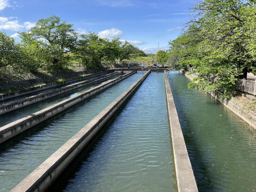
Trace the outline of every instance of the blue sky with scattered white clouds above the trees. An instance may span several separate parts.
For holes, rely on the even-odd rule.
[[[180,34],[196,0],[0,0],[0,30],[17,38],[33,24],[52,14],[80,33],[129,40],[146,53],[168,49]]]

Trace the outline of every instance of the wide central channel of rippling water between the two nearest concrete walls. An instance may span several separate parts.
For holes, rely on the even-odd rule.
[[[176,191],[164,73],[151,73],[49,191]]]

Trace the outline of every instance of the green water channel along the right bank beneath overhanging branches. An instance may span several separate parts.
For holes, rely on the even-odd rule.
[[[243,120],[168,74],[199,191],[256,191],[256,139]]]

